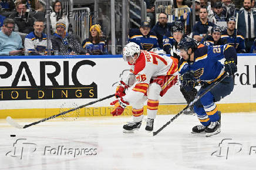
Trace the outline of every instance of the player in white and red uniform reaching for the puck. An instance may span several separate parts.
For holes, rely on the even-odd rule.
[[[123,125],[124,132],[139,130],[143,119],[143,106],[147,100],[147,125],[153,131],[154,118],[159,98],[177,82],[177,62],[171,57],[140,50],[133,42],[123,48],[123,59],[129,63],[130,72],[126,80],[120,81],[116,89],[118,100],[113,101],[111,114],[121,115],[127,105],[133,107],[133,122]],[[127,89],[127,90],[126,90]]]

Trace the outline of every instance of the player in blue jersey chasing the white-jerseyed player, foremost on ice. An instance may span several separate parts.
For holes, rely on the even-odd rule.
[[[229,75],[194,104],[201,125],[193,127],[192,132],[206,132],[207,137],[218,134],[221,131],[220,111],[215,102],[228,96],[234,89],[233,75],[237,72],[235,48],[230,45],[204,46],[194,39],[184,38],[178,43],[178,49],[183,57],[178,64],[178,72],[181,84],[187,91],[200,81],[203,84],[197,93],[200,95],[225,72]],[[219,61],[223,58],[224,64]]]

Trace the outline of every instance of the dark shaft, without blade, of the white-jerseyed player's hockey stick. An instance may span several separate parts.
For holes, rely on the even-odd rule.
[[[72,109],[67,110],[67,111],[63,111],[62,113],[52,115],[52,116],[50,116],[50,117],[48,117],[48,118],[43,118],[42,120],[36,121],[36,122],[34,122],[34,123],[24,125],[24,126],[23,126],[23,128],[31,127],[32,125],[36,125],[36,124],[42,123],[42,122],[47,121],[47,120],[49,120],[49,119],[52,119],[52,118],[58,117],[58,116],[63,115],[63,114],[67,114],[67,113],[69,113],[69,112],[71,112],[71,111],[78,110],[79,108],[83,108],[83,107],[86,107],[86,106],[89,106],[89,105],[95,104],[95,103],[97,103],[97,102],[99,102],[99,101],[106,100],[107,98],[111,98],[111,97],[113,97],[113,96],[114,96],[114,94],[111,94],[111,95],[109,95],[109,96],[106,96],[106,97],[100,98],[99,100],[91,101],[90,103],[83,104],[83,105],[81,105],[81,106],[79,106],[79,107],[72,108]]]

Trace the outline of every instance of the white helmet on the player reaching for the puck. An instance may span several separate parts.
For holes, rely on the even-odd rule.
[[[126,46],[123,47],[123,59],[126,62],[134,63],[136,59],[134,59],[134,55],[140,55],[140,46],[134,42],[127,43]]]

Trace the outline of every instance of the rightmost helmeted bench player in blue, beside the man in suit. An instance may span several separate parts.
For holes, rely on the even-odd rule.
[[[234,46],[237,53],[245,53],[244,37],[235,29],[235,23],[235,16],[227,19],[227,29],[222,32],[221,39],[226,39],[227,44]]]

